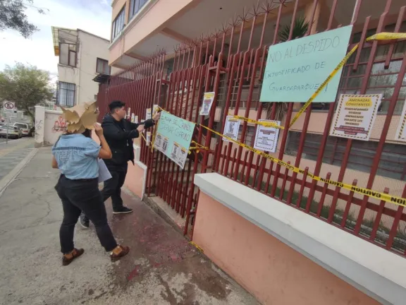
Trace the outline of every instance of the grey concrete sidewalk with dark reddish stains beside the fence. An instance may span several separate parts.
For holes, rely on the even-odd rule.
[[[258,304],[156,215],[123,192],[130,215],[111,215],[111,229],[130,254],[116,263],[91,225],[77,226],[85,254],[61,267],[62,209],[54,191],[50,148],[40,148],[0,198],[0,304]]]

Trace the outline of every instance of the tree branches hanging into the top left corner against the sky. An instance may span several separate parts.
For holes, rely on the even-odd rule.
[[[27,20],[24,12],[32,4],[32,0],[0,0],[0,31],[17,30],[24,38],[31,37],[38,28]],[[36,9],[44,13],[43,8]]]

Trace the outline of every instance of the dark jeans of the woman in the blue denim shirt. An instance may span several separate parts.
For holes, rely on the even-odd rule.
[[[55,189],[63,206],[63,221],[59,230],[62,253],[73,250],[73,234],[81,210],[96,227],[101,246],[106,251],[116,248],[116,239],[107,223],[106,208],[98,189],[97,179],[70,180],[61,175]]]

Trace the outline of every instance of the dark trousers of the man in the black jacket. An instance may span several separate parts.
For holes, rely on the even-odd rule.
[[[111,167],[107,164],[107,168],[109,169],[109,172],[111,174],[111,179],[104,181],[104,187],[103,191],[101,191],[101,196],[103,196],[103,201],[106,201],[111,197],[113,210],[119,210],[120,208],[123,208],[123,199],[121,199],[121,186],[123,186],[125,181],[128,164],[125,163],[124,165],[116,165],[114,167]]]

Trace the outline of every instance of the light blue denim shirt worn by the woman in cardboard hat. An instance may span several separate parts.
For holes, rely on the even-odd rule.
[[[80,133],[63,135],[52,148],[61,173],[71,180],[99,177],[100,145]]]

